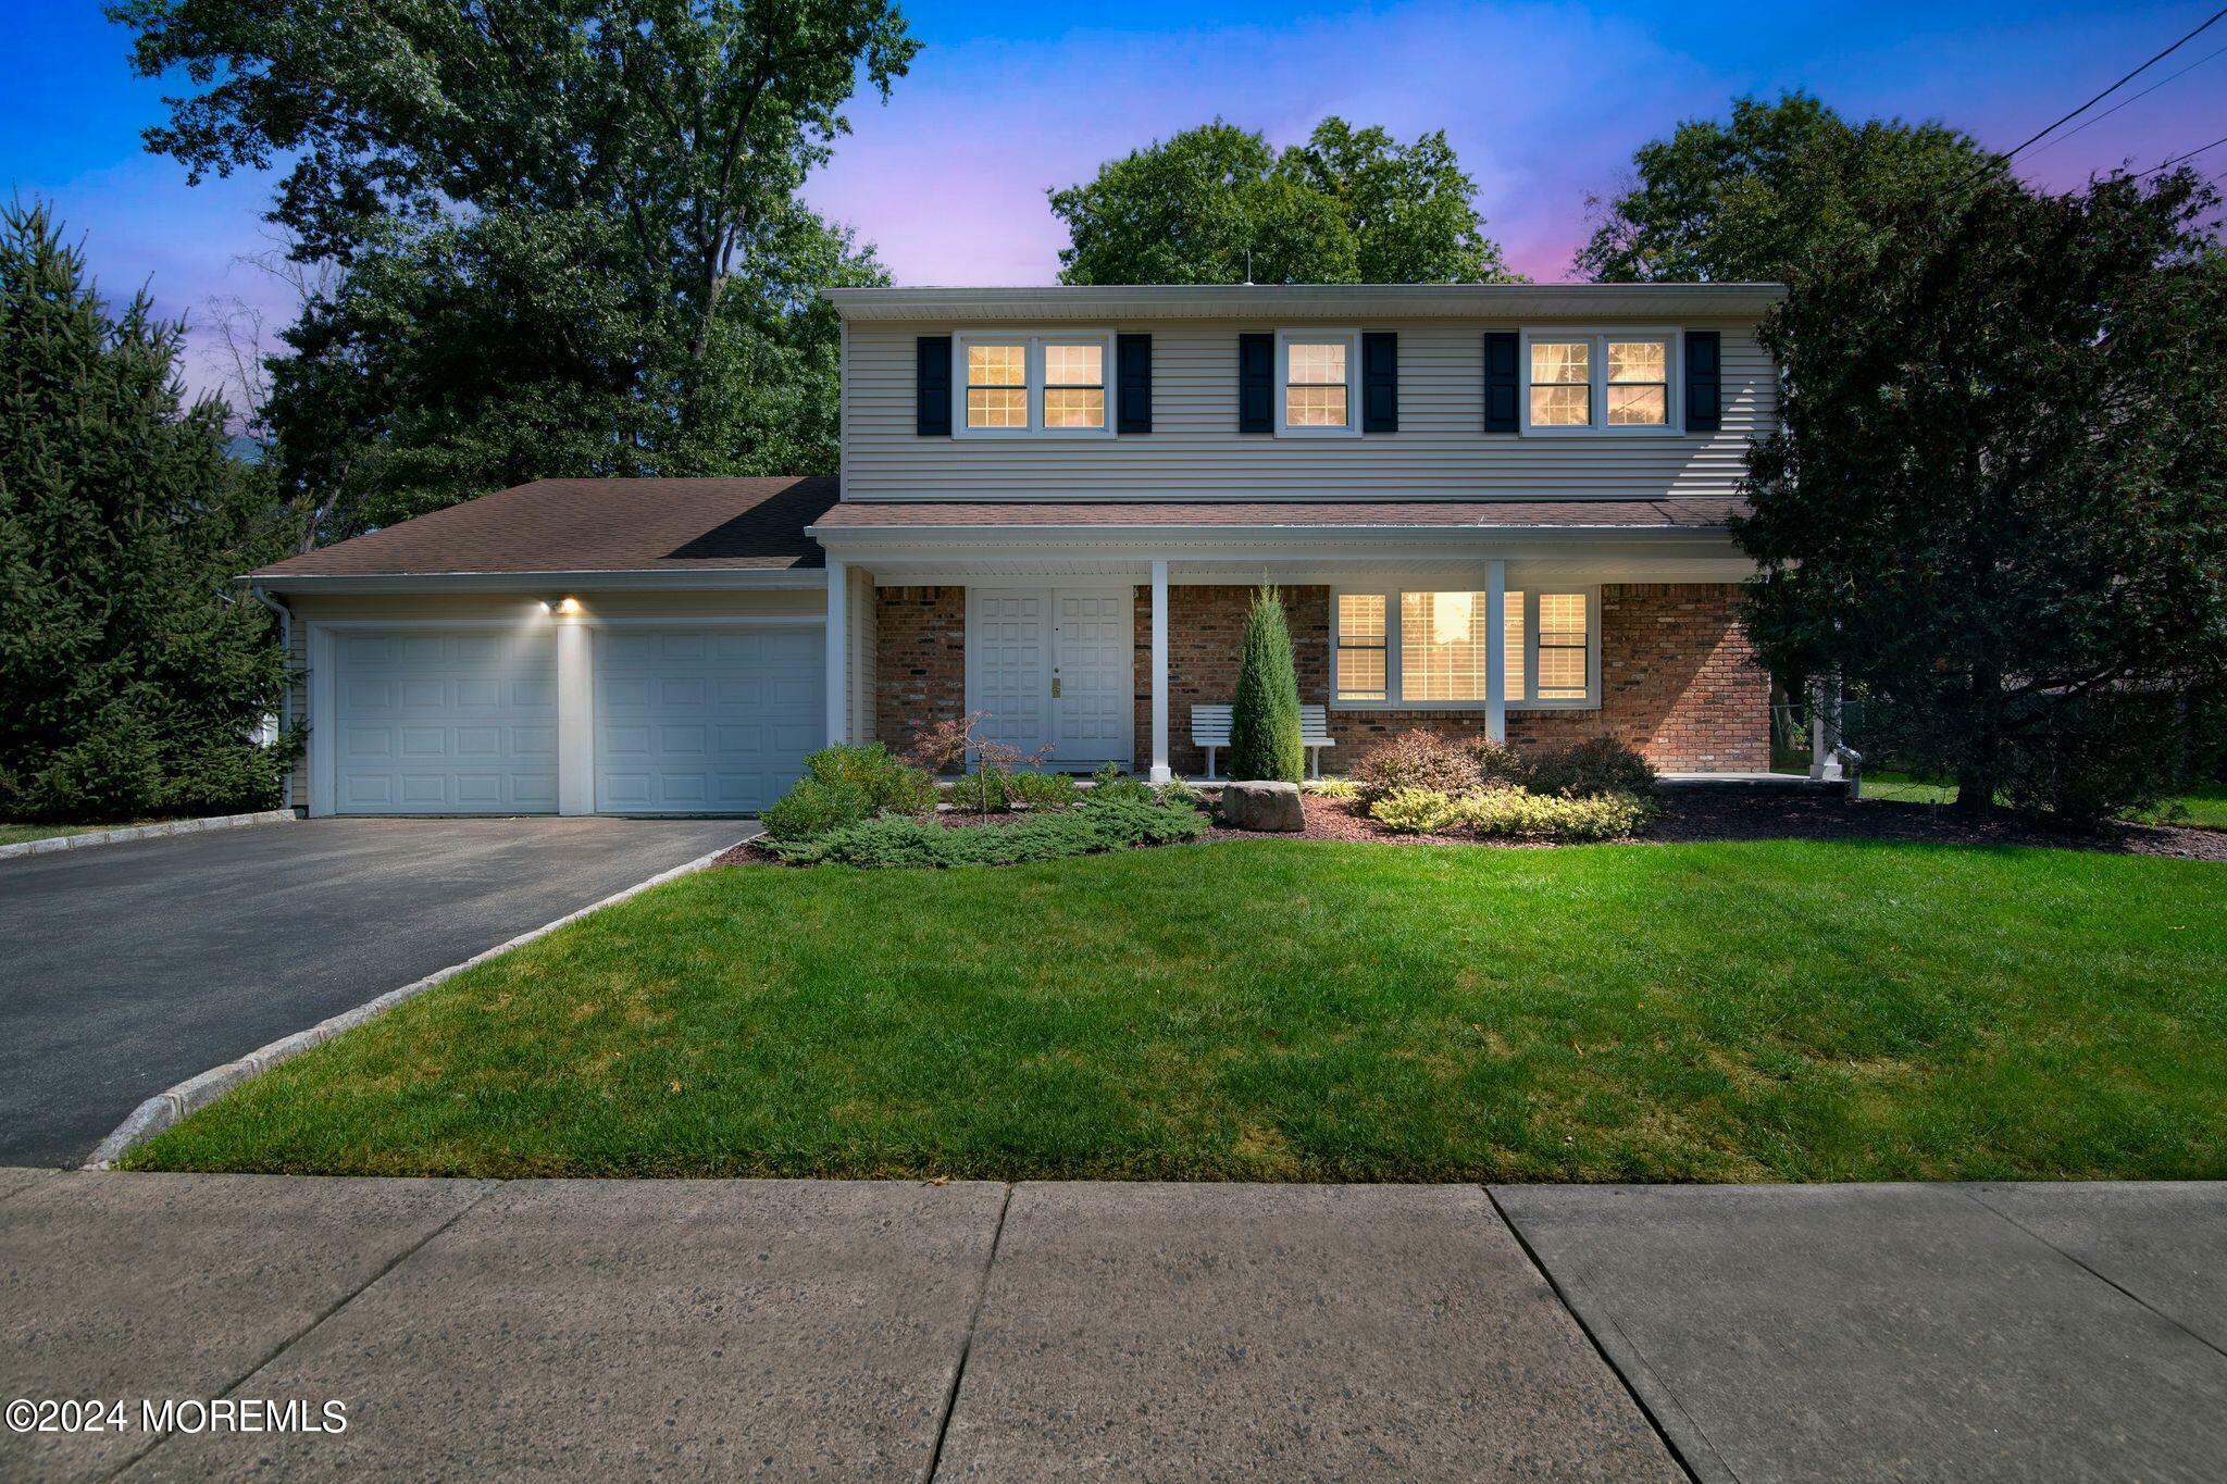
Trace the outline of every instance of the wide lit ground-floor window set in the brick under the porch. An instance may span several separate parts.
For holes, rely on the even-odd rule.
[[[1341,592],[1332,634],[1338,705],[1485,705],[1490,614],[1483,592]],[[1590,594],[1510,592],[1499,623],[1510,705],[1599,705]]]

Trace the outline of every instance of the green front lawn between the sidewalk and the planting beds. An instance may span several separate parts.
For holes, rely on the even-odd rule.
[[[2227,1177],[2227,870],[1243,841],[715,870],[147,1146],[167,1170]]]

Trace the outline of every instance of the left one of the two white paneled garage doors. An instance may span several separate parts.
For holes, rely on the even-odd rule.
[[[557,645],[503,630],[334,636],[341,814],[552,814]]]

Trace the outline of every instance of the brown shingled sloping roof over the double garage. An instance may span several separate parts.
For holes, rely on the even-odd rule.
[[[441,572],[706,572],[824,567],[806,525],[835,478],[537,478],[258,570],[285,576]]]

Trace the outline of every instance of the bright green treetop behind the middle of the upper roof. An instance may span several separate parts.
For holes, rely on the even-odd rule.
[[[1477,182],[1443,131],[1325,118],[1283,154],[1214,120],[1051,191],[1062,283],[1501,283]]]

